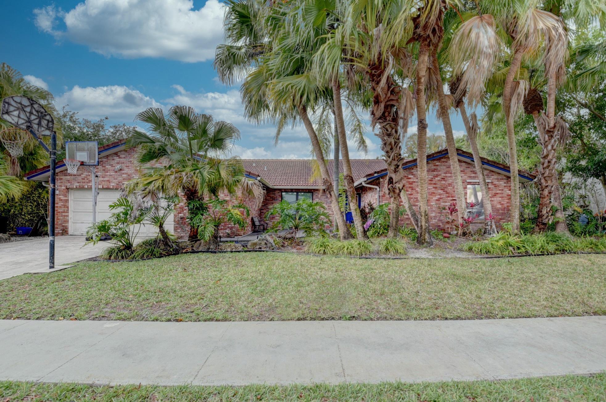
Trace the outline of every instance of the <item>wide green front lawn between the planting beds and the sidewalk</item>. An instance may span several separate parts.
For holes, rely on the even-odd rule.
[[[606,314],[606,255],[349,259],[257,252],[85,262],[0,281],[0,318],[442,320]]]

